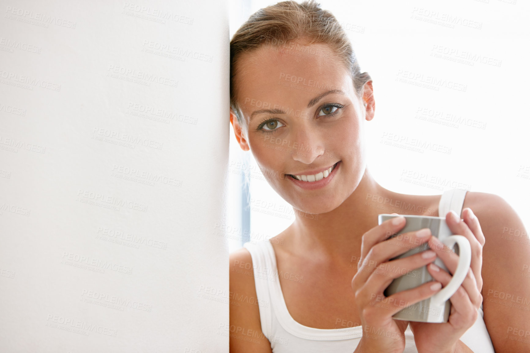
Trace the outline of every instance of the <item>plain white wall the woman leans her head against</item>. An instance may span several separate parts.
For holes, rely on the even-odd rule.
[[[0,12],[0,351],[228,352],[226,1]]]

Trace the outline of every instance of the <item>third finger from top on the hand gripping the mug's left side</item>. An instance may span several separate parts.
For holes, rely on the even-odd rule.
[[[385,288],[391,284],[395,278],[402,276],[410,276],[417,278],[421,276],[418,268],[426,266],[426,264],[436,259],[436,252],[432,250],[422,251],[420,253],[410,255],[406,258],[383,262],[377,266],[366,280],[365,286],[370,288],[370,291],[375,294],[383,293]],[[363,269],[361,269],[362,271]],[[370,296],[373,294],[370,293]]]

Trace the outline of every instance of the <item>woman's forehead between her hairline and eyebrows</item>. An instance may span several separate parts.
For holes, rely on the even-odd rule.
[[[237,61],[237,98],[245,118],[260,105],[307,109],[322,92],[351,94],[351,76],[342,60],[325,44],[292,48],[262,46]]]

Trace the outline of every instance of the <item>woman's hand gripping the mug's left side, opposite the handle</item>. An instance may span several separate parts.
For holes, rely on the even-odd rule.
[[[403,217],[394,217],[373,227],[363,235],[357,273],[351,281],[363,325],[363,338],[355,352],[403,352],[405,348],[403,333],[409,322],[394,320],[392,315],[409,305],[427,299],[441,288],[440,282],[430,281],[389,297],[384,296],[383,291],[392,280],[436,259],[436,253],[427,250],[406,258],[389,261],[427,242],[431,237],[430,230],[425,228],[422,230],[423,233],[421,231],[408,232],[388,239],[404,225]]]

